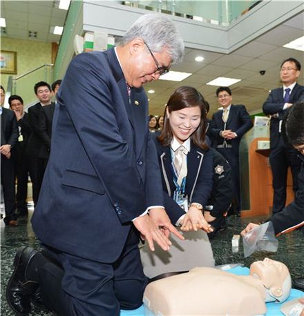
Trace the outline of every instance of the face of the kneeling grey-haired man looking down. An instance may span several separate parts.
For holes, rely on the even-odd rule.
[[[153,56],[158,62],[158,65],[156,65]],[[160,75],[155,74],[158,67],[170,67],[171,57],[165,50],[162,50],[162,52],[153,52],[153,56],[149,50],[146,49],[143,42],[135,47],[132,66],[129,67],[128,73],[129,86],[140,88],[144,83],[158,80]]]

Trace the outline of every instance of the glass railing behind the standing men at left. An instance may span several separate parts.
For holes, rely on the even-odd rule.
[[[35,83],[46,81],[53,82],[53,65],[46,64],[26,72],[25,74],[12,78],[12,95],[20,95],[24,102],[24,107],[32,105],[37,101],[34,92]]]

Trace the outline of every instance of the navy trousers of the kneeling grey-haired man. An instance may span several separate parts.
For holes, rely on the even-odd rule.
[[[113,264],[47,248],[46,253],[62,268],[49,260],[38,268],[46,308],[61,316],[115,316],[120,315],[120,308],[140,307],[146,277],[137,244],[138,237],[131,230],[122,254]]]

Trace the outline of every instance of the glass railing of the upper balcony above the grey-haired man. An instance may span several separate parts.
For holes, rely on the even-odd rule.
[[[228,26],[229,23],[238,19],[261,1],[236,1],[236,0],[213,0],[213,1],[122,1],[125,6],[141,8],[172,14],[178,17],[203,21],[211,24]]]

